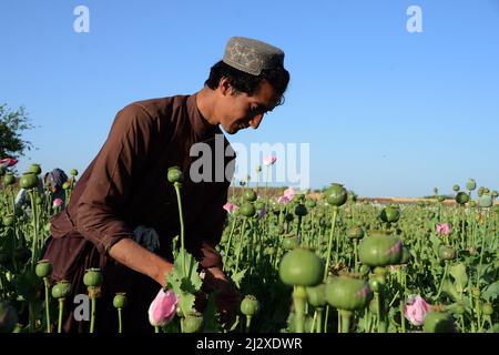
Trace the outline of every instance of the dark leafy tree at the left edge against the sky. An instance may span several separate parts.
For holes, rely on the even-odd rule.
[[[0,159],[19,158],[30,151],[33,145],[22,139],[22,132],[32,128],[23,106],[11,111],[7,104],[0,105]]]

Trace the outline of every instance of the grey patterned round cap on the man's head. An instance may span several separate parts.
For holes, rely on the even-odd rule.
[[[225,47],[222,59],[235,69],[259,75],[262,69],[284,67],[284,52],[268,43],[244,37],[233,37]]]

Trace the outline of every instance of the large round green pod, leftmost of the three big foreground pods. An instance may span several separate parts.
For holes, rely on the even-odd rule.
[[[313,251],[296,247],[284,255],[279,276],[286,285],[315,286],[323,280],[324,263]]]

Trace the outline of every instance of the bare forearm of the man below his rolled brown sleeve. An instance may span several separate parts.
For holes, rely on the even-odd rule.
[[[172,263],[129,237],[113,244],[109,254],[123,265],[155,280],[162,286],[166,285],[165,274],[171,273],[173,268]]]

